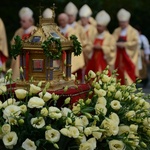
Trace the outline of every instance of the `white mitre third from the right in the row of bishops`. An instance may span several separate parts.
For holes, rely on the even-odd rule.
[[[80,10],[79,10],[80,17],[90,17],[91,15],[92,15],[92,10],[87,4],[83,5],[80,8]]]

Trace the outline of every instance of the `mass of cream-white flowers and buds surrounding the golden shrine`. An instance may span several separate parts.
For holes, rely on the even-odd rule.
[[[0,149],[149,150],[150,104],[141,89],[121,85],[108,69],[90,71],[85,80],[91,87],[85,99],[69,106],[68,97],[61,108],[49,83],[14,92],[1,85]]]

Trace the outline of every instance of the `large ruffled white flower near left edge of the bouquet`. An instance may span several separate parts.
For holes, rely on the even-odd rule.
[[[6,119],[12,116],[19,116],[21,113],[21,109],[16,105],[9,105],[3,111],[3,117]]]

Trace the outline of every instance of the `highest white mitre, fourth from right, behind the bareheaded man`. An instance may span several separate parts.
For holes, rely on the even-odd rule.
[[[78,8],[72,2],[69,2],[65,7],[64,12],[68,15],[76,16],[78,13]]]

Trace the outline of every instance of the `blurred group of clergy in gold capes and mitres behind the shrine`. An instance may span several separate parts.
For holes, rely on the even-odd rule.
[[[77,21],[77,15],[80,19]],[[42,13],[43,18],[51,18],[52,10],[47,8]],[[31,35],[36,29],[34,26],[33,11],[23,7],[19,11],[21,27],[14,36],[22,39]],[[147,65],[150,63],[150,46],[148,39],[142,35],[139,27],[130,25],[131,14],[125,9],[117,13],[119,27],[111,34],[107,25],[110,15],[101,10],[95,19],[91,8],[85,4],[79,10],[69,2],[64,12],[58,15],[60,32],[69,38],[76,35],[82,45],[80,56],[72,56],[72,73],[77,73],[78,79],[83,83],[84,75],[89,70],[102,72],[109,65],[109,75],[117,69],[121,84],[131,84],[136,78],[143,80],[143,86],[148,82]],[[5,71],[5,62],[8,58],[6,34],[2,20],[0,20],[0,67]],[[14,43],[12,38],[11,43]],[[13,79],[19,77],[19,57],[12,60]]]

